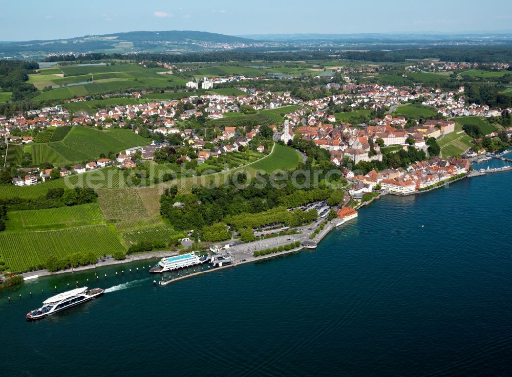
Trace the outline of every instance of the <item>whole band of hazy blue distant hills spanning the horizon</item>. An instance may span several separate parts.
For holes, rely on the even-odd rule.
[[[56,54],[189,54],[226,51],[400,50],[461,46],[512,46],[512,32],[255,34],[193,30],[132,31],[54,40],[0,41],[0,59],[41,60]]]

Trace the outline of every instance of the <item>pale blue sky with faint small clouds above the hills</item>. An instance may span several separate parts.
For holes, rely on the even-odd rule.
[[[228,35],[512,31],[510,0],[2,1],[0,40],[59,39],[127,31]],[[416,4],[418,3],[418,4]]]

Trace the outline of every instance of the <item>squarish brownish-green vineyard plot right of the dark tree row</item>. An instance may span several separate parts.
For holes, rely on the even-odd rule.
[[[137,189],[103,189],[97,190],[97,193],[99,207],[105,218],[133,220],[150,217]]]

